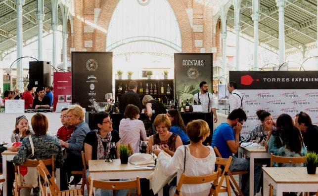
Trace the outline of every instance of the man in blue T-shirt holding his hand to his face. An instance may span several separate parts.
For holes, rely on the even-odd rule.
[[[239,134],[242,125],[246,121],[246,114],[242,109],[233,110],[227,117],[227,121],[220,124],[213,132],[212,147],[217,147],[223,158],[228,158],[237,153],[239,148]],[[256,194],[261,174],[262,164],[255,162],[254,167],[254,195]],[[249,171],[249,160],[233,157],[229,166],[230,171]],[[249,175],[244,174],[241,181],[241,191],[244,196],[249,195]]]

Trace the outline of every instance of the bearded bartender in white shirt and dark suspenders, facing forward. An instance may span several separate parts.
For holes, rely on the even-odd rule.
[[[201,81],[200,83],[200,92],[193,95],[193,102],[202,104],[203,112],[211,112],[214,115],[214,122],[218,121],[217,112],[214,106],[213,95],[208,92],[209,85],[206,81]]]

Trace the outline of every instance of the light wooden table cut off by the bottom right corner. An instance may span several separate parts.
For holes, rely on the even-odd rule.
[[[263,167],[264,196],[269,195],[269,183],[276,190],[276,196],[283,192],[317,192],[318,173],[307,174],[306,167]]]

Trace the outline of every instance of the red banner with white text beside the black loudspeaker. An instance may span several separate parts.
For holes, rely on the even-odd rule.
[[[57,102],[72,102],[72,74],[71,72],[53,73],[53,107]]]

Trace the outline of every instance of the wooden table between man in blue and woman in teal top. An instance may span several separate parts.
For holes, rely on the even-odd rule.
[[[239,147],[238,157],[246,155],[250,157],[250,196],[254,195],[254,159],[255,158],[270,158],[270,154],[265,150],[265,147]],[[264,195],[265,196],[265,195]]]

